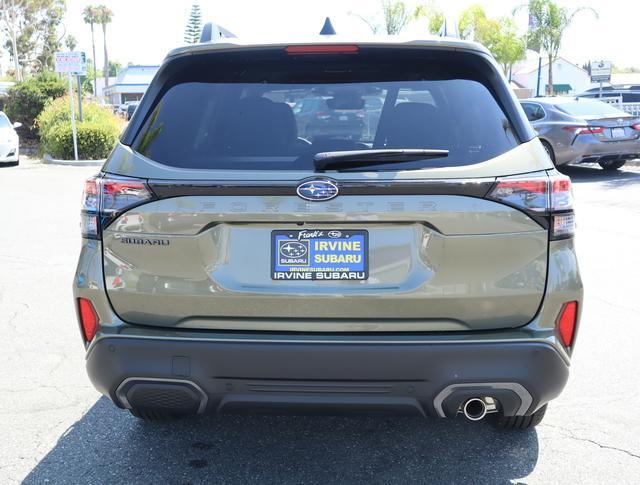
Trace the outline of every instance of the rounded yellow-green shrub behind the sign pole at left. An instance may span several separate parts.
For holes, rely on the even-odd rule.
[[[82,113],[83,121],[76,120],[78,157],[89,160],[105,158],[118,140],[122,120],[96,103],[83,103]],[[38,116],[36,126],[43,152],[54,158],[73,159],[68,97],[49,102]]]

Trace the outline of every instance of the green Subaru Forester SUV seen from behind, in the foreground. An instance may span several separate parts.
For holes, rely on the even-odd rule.
[[[482,46],[172,51],[85,183],[95,387],[143,419],[539,423],[581,311],[571,184]]]

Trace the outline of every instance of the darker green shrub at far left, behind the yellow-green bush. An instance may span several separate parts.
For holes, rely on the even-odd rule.
[[[42,73],[11,87],[4,111],[11,121],[22,123],[23,135],[33,138],[36,136],[36,117],[49,101],[63,96],[66,90],[64,81],[55,74]]]

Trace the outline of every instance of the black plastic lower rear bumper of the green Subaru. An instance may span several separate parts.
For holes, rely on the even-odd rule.
[[[470,397],[505,415],[557,397],[566,359],[545,342],[356,343],[147,338],[100,334],[87,354],[94,386],[120,407],[185,413],[247,410],[454,416]]]

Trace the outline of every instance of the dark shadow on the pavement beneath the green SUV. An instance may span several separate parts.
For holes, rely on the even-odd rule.
[[[106,398],[24,483],[508,483],[535,431],[462,419],[224,416],[149,424]]]

